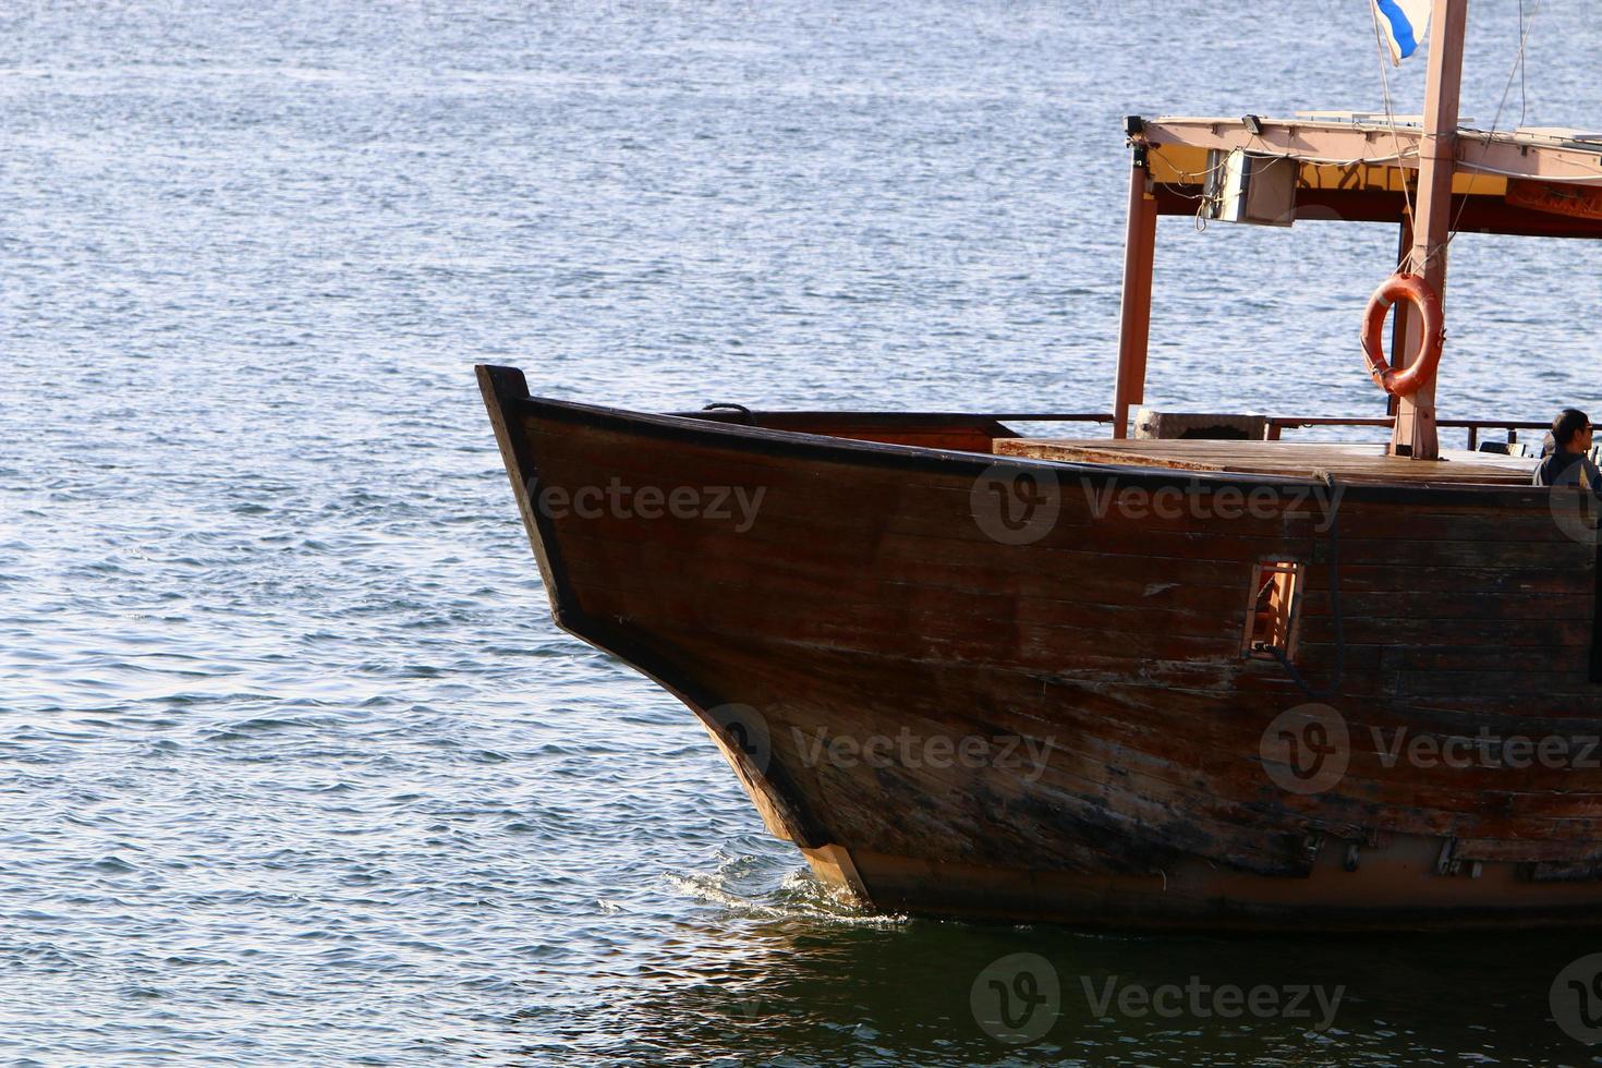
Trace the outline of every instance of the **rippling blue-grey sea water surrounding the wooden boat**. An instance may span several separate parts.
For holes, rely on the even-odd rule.
[[[1501,125],[1602,125],[1596,5],[1544,6]],[[473,383],[1101,408],[1121,115],[1378,107],[1367,18],[0,6],[0,1058],[1586,1060],[1548,990],[1592,935],[1088,937],[831,900],[687,713],[551,626]],[[1471,32],[1488,125],[1515,5]],[[1394,245],[1165,221],[1150,397],[1378,412],[1354,335]],[[1594,250],[1453,255],[1442,413],[1602,407]],[[1014,953],[1062,990],[1027,1047],[971,1009]],[[1344,991],[1320,1031],[1102,1012],[1109,980]]]

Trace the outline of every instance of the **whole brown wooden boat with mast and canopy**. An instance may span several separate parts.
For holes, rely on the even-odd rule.
[[[1208,184],[1224,168],[1286,168],[1262,221],[1399,224],[1437,293],[1451,223],[1602,234],[1602,146],[1458,128],[1464,8],[1435,0],[1421,125],[1129,122],[1112,412],[646,415],[481,367],[556,621],[682,700],[767,828],[870,908],[1596,922],[1584,495],[1530,487],[1533,458],[1442,453],[1432,383],[1367,418],[1213,420],[1250,440],[1128,436],[1157,218],[1250,216]],[[1392,344],[1407,368],[1427,338],[1403,320]],[[1325,423],[1391,440],[1283,439]],[[1439,426],[1472,448],[1544,423]]]

